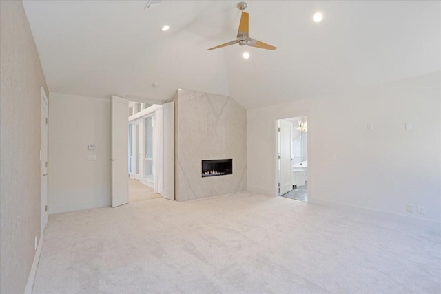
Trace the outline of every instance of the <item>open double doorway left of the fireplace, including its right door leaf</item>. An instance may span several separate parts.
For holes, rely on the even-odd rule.
[[[129,106],[129,202],[174,200],[174,102]]]

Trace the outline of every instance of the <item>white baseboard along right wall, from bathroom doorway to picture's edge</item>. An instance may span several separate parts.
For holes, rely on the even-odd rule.
[[[382,220],[390,220],[394,222],[401,222],[406,224],[413,224],[416,226],[424,227],[427,229],[431,229],[434,231],[438,231],[441,233],[441,222],[437,222],[435,220],[427,220],[424,218],[415,218],[413,216],[404,216],[402,214],[393,213],[390,211],[382,211],[378,209],[370,209],[367,207],[360,207],[358,205],[353,204],[345,204],[342,202],[334,202],[329,200],[321,200],[321,199],[311,199],[308,200],[308,203],[322,205],[326,207],[332,207],[336,209],[343,209],[346,211],[353,211],[356,213],[365,213],[372,217],[382,219]]]

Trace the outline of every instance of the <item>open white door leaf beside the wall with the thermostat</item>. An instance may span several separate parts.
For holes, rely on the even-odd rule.
[[[112,207],[129,202],[127,99],[112,96]]]

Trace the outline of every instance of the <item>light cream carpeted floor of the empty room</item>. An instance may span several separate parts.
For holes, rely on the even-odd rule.
[[[234,193],[50,216],[33,293],[440,293],[441,236]]]

